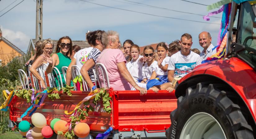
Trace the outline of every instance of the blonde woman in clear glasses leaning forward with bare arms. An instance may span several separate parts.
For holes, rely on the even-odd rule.
[[[46,61],[46,57],[50,57],[53,50],[53,42],[51,39],[44,40],[41,44],[41,47],[37,47],[37,53],[35,54],[34,62],[30,67],[29,71],[41,82],[41,87],[46,88],[43,78],[38,74],[37,69],[42,68],[43,63],[49,64]],[[43,54],[42,54],[43,53]],[[45,68],[45,69],[44,69]],[[43,70],[46,70],[46,67],[43,67]]]

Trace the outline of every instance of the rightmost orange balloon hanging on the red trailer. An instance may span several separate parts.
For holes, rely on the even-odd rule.
[[[78,123],[75,125],[74,133],[77,137],[87,137],[90,133],[90,127],[86,123]]]

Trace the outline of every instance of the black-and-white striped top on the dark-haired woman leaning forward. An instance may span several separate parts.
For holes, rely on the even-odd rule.
[[[97,60],[97,58],[99,57],[100,54],[101,54],[101,51],[99,49],[93,48],[92,51],[90,52],[90,54],[88,55],[87,60],[92,59],[96,63],[96,60]],[[94,74],[93,74],[93,71],[92,71],[93,69],[95,69],[95,66],[93,66],[88,71],[88,74],[89,74],[92,82],[95,82],[95,77],[94,77]]]

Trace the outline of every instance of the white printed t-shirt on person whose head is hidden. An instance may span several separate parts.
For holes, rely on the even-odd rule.
[[[83,48],[75,53],[74,58],[76,59],[76,65],[81,69],[85,61],[87,61],[87,57],[89,53],[92,51],[93,47]]]

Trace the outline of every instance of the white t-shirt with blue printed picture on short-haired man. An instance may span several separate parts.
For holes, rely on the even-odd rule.
[[[179,51],[171,56],[168,70],[175,70],[174,77],[183,77],[194,70],[195,66],[200,65],[201,62],[200,55],[190,51],[189,55],[184,56],[181,51]]]

